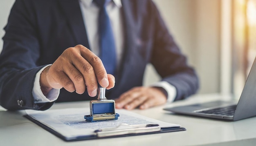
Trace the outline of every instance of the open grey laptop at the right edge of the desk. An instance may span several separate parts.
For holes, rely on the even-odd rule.
[[[164,110],[182,115],[209,117],[229,121],[237,121],[256,116],[256,58],[252,64],[238,103],[218,100],[202,104],[164,108]]]

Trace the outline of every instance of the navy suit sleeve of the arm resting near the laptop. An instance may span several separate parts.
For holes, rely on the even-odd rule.
[[[151,63],[163,81],[175,86],[175,100],[182,100],[196,93],[199,88],[198,77],[195,70],[187,64],[186,56],[175,44],[155,4],[152,3],[151,9],[155,22]]]

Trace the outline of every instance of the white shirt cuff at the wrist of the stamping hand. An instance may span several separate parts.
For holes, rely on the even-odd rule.
[[[52,64],[49,64],[47,66],[50,66],[50,65]],[[40,69],[40,71],[38,71],[38,73],[36,73],[36,78],[35,78],[34,86],[32,90],[32,95],[34,97],[35,104],[54,102],[55,100],[58,99],[58,95],[60,94],[60,89],[52,89],[51,91],[49,91],[47,97],[43,95],[43,92],[40,87],[40,75],[47,66],[43,67],[42,69]]]

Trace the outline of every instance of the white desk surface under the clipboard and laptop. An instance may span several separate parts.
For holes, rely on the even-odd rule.
[[[132,110],[132,112],[180,124],[186,131],[97,139],[78,142],[64,142],[60,138],[45,131],[40,126],[29,121],[23,115],[25,111],[6,111],[0,107],[0,145],[1,146],[165,146],[165,145],[255,145],[256,117],[236,122],[225,122],[215,119],[174,115],[162,110],[164,107],[207,102],[228,98],[217,94],[195,95],[188,100],[150,108],[147,110]],[[89,102],[56,103],[51,109],[89,107]],[[89,110],[89,108],[88,108]]]

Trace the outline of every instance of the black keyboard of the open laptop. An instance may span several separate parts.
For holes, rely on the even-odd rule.
[[[213,108],[205,111],[198,111],[198,113],[216,114],[216,115],[234,115],[236,111],[236,105],[225,106],[220,108]]]

